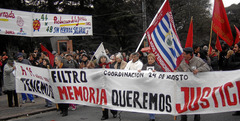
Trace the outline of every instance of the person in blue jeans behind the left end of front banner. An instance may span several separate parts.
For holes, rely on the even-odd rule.
[[[18,59],[17,62],[19,62],[19,63],[31,65],[31,63],[30,63],[27,59],[23,59],[22,53],[18,53],[17,59]],[[27,94],[27,96],[28,96],[29,100],[30,100],[32,103],[35,103],[34,97],[33,97],[32,94]],[[23,103],[23,104],[26,103],[26,101],[27,101],[27,96],[26,96],[25,93],[22,93],[22,103]]]

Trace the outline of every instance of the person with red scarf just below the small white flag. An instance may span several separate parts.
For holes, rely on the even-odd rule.
[[[110,60],[108,59],[107,55],[101,55],[99,57],[99,60],[97,61],[98,62],[98,65],[96,66],[96,68],[110,68]],[[110,110],[110,112],[113,114],[113,118],[116,118],[117,117],[117,111],[115,110]],[[106,120],[108,119],[108,109],[106,108],[103,108],[102,109],[102,118],[101,120]]]

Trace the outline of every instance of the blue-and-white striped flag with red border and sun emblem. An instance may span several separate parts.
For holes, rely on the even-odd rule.
[[[165,0],[157,17],[146,31],[156,61],[165,72],[173,72],[181,63],[183,49],[180,44],[169,5]]]

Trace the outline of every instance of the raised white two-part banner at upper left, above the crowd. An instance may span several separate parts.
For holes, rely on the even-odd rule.
[[[15,36],[91,36],[91,15],[66,15],[0,8],[0,34]]]

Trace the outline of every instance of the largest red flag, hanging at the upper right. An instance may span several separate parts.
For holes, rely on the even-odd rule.
[[[233,44],[232,31],[228,22],[227,14],[223,6],[222,0],[215,0],[213,17],[212,17],[212,29],[215,33],[229,45]]]

